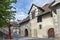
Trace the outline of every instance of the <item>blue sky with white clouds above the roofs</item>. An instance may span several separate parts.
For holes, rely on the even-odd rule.
[[[12,6],[16,8],[12,9],[16,10],[15,20],[23,20],[24,18],[26,18],[32,4],[42,7],[46,3],[51,3],[52,1],[53,0],[17,0],[16,4],[12,4]]]

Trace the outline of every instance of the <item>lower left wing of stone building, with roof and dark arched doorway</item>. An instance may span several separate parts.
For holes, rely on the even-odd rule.
[[[29,16],[20,22],[20,35],[21,36],[30,36],[30,23]]]

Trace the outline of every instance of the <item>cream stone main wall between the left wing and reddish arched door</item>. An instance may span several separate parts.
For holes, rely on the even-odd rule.
[[[36,12],[37,13],[37,12]],[[42,16],[42,22],[37,22],[37,17],[30,20],[31,24],[31,36],[32,37],[39,37],[39,38],[48,38],[48,30],[50,28],[54,28],[54,31],[56,33],[56,24],[55,19],[57,16],[55,13],[52,13],[53,17],[51,17],[51,14],[47,14]],[[54,19],[55,18],[55,19]],[[39,29],[39,25],[42,25],[42,29]],[[34,31],[36,30],[36,31]],[[35,33],[36,32],[36,33]],[[55,34],[56,35],[56,34]]]

